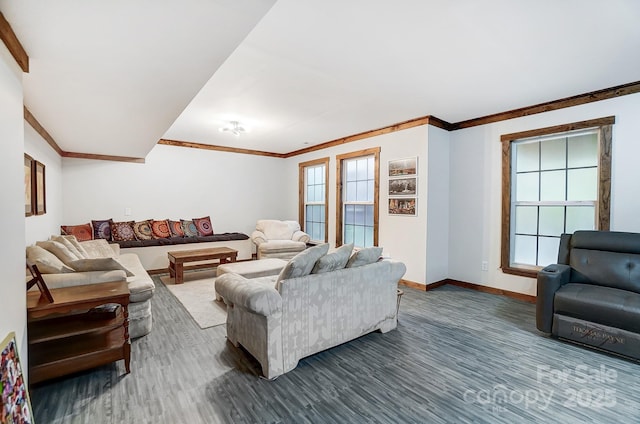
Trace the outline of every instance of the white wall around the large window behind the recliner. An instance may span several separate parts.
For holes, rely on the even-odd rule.
[[[452,132],[450,278],[536,294],[536,282],[500,267],[502,134],[615,115],[611,230],[640,232],[640,94]],[[489,270],[481,270],[482,261]]]

